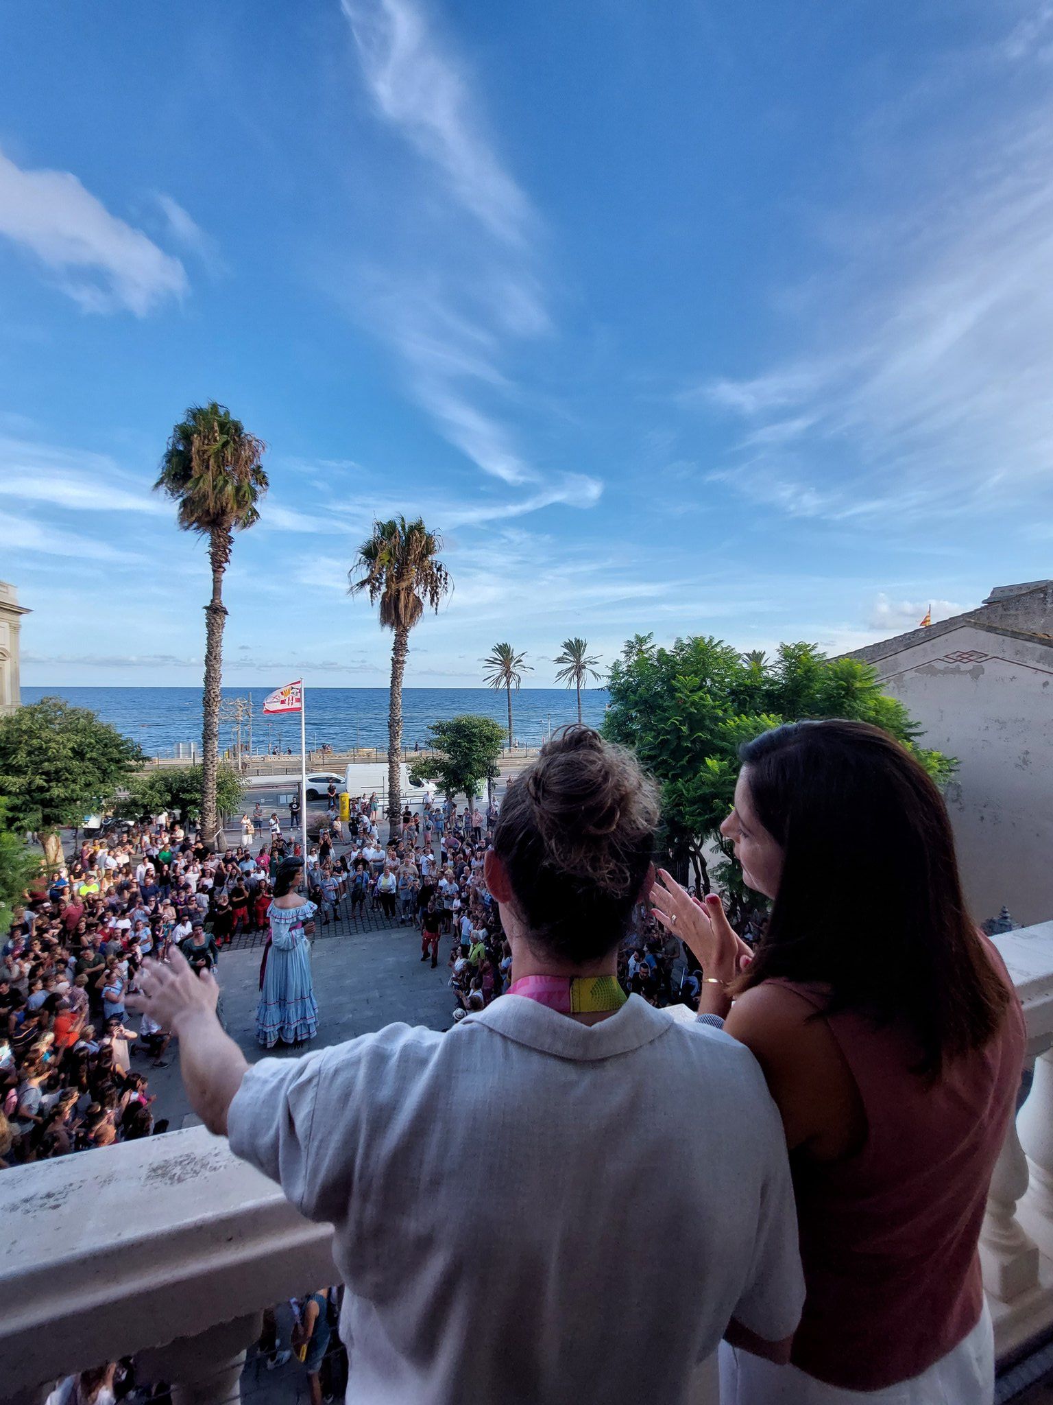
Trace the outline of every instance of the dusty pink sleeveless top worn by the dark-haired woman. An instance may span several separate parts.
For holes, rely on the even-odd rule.
[[[817,1010],[826,1005],[820,988],[778,984]],[[876,1391],[928,1370],[980,1318],[980,1224],[1026,1034],[1012,992],[995,1038],[929,1085],[910,1072],[918,1051],[906,1033],[856,1012],[827,1024],[859,1089],[868,1137],[856,1155],[828,1165],[790,1158],[807,1294],[790,1359],[830,1385]]]

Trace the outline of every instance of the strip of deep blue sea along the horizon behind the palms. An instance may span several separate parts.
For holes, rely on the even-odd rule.
[[[225,698],[251,698],[253,750],[265,752],[268,738],[299,750],[299,715],[264,718],[263,701],[271,688],[223,688]],[[27,688],[22,701],[62,697],[87,707],[147,756],[170,756],[180,742],[201,743],[201,688]],[[608,695],[604,688],[581,694],[583,721],[600,726]],[[507,725],[504,693],[493,688],[406,688],[403,691],[403,746],[421,746],[428,724],[476,712]],[[573,688],[521,688],[512,693],[515,740],[539,746],[549,728],[577,721]],[[243,742],[247,732],[243,729]],[[307,746],[329,742],[336,750],[351,746],[388,746],[388,688],[307,688]],[[230,725],[220,725],[220,746],[232,745]]]

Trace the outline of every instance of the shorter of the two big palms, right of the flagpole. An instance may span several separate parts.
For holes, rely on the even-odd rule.
[[[438,561],[442,538],[428,531],[421,518],[407,523],[393,517],[373,523],[348,570],[350,593],[369,592],[369,603],[380,603],[380,628],[392,629],[392,686],[388,694],[388,818],[390,837],[397,837],[402,813],[399,760],[402,753],[402,679],[410,648],[410,629],[424,614],[424,606],[438,610],[452,589],[449,572]]]

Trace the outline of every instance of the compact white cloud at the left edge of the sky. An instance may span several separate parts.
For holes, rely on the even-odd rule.
[[[145,316],[187,292],[178,259],[117,215],[70,171],[22,170],[0,152],[0,235],[28,249],[86,312]]]

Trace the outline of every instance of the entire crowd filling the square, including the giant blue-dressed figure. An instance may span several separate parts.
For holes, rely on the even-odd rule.
[[[149,1069],[164,1066],[170,1033],[149,1016],[132,1019],[125,998],[143,964],[164,961],[173,946],[194,969],[218,971],[239,936],[267,934],[257,1019],[264,1048],[300,1045],[317,1033],[303,948],[305,923],[309,937],[314,920],[327,926],[338,915],[368,913],[410,927],[432,968],[448,939],[455,1021],[507,989],[511,951],[483,875],[494,802],[459,808],[427,797],[418,811],[404,808],[397,836],[383,843],[378,797],[352,801],[341,822],[330,787],[306,860],[296,801],[289,809],[284,830],[278,813],[257,802],[241,822],[249,842],[223,854],[164,812],[114,826],[27,894],[0,960],[0,1166],[164,1130],[164,1120],[154,1123]],[[291,860],[302,865],[291,877],[305,891],[289,908],[275,884]],[[275,896],[288,920],[285,910],[275,916]],[[275,948],[282,926],[298,936],[284,944],[279,937]],[[656,1006],[694,1005],[699,986],[689,964],[649,906],[637,905],[619,958],[626,992]]]

